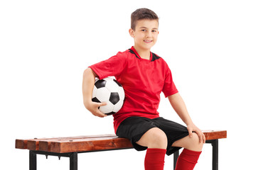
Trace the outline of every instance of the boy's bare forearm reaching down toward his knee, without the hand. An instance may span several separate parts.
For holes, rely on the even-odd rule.
[[[181,118],[181,120],[183,120],[184,123],[186,123],[186,125],[193,123],[180,94],[177,93],[168,96],[168,99],[171,103],[171,106],[174,108],[174,111],[176,111],[178,116]]]

